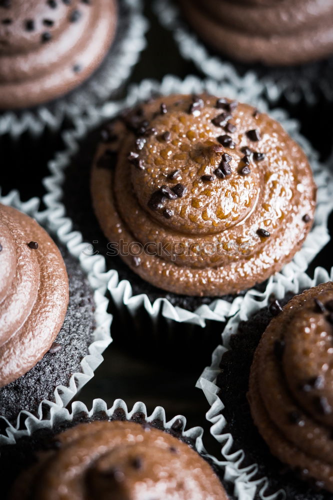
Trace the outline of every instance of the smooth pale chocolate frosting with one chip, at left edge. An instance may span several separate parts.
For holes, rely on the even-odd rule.
[[[26,373],[59,332],[68,304],[61,254],[31,217],[0,204],[0,387]]]

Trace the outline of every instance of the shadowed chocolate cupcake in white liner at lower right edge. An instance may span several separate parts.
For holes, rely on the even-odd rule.
[[[239,457],[260,498],[331,498],[333,282],[317,284],[327,278],[317,268],[312,282],[300,275],[245,297],[202,375],[203,388],[213,381],[206,395],[222,454]]]

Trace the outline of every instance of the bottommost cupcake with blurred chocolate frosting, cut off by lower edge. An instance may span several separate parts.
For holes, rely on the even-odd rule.
[[[65,491],[78,498],[227,500],[204,450],[197,450],[201,435],[195,429],[184,433],[183,417],[166,424],[162,408],[148,419],[140,403],[130,414],[119,400],[110,410],[100,400],[94,406],[89,414],[57,418],[46,430],[40,421],[32,434],[1,447],[6,498],[51,498]],[[96,411],[98,406],[106,411]]]

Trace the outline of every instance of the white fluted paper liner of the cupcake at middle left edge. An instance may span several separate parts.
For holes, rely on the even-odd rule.
[[[106,312],[108,300],[104,296],[106,291],[107,282],[109,280],[108,273],[95,272],[95,259],[93,257],[87,256],[84,259],[81,258],[81,248],[79,242],[76,242],[74,238],[70,239],[70,243],[67,243],[66,233],[63,227],[57,230],[56,224],[51,224],[49,219],[49,214],[46,211],[38,211],[40,200],[39,198],[31,198],[28,201],[20,201],[19,193],[16,190],[10,191],[6,196],[1,196],[0,189],[0,203],[5,205],[13,206],[18,210],[28,214],[40,223],[48,232],[53,232],[57,234],[57,237],[61,243],[67,246],[68,251],[75,258],[79,258],[80,265],[83,267],[87,274],[87,278],[91,288],[94,290],[94,302],[95,311],[94,318],[96,322],[96,327],[92,335],[92,342],[88,347],[89,354],[85,355],[81,362],[81,372],[75,372],[71,375],[68,381],[68,385],[58,385],[54,389],[54,400],[59,406],[66,406],[68,402],[77,394],[77,392],[86,384],[88,380],[93,377],[94,370],[102,362],[103,357],[101,353],[106,349],[106,347],[112,341],[110,336],[110,325],[112,316]],[[41,404],[45,400],[39,403],[38,413],[41,411]],[[50,403],[52,404],[52,403]],[[21,413],[21,412],[20,412]],[[19,421],[19,415],[17,416],[17,422]]]

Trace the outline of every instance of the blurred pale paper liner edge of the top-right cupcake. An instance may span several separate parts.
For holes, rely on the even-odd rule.
[[[183,21],[179,7],[174,0],[154,0],[153,9],[161,25],[172,31],[179,51],[185,59],[192,61],[203,74],[210,78],[215,78],[218,81],[230,81],[235,86],[241,85],[242,77],[239,76],[232,63],[223,61],[217,55],[212,55],[204,42]],[[248,70],[243,77],[246,78],[249,85],[255,85],[258,81],[254,71],[251,70]],[[260,78],[260,82],[272,102],[277,101],[281,95],[284,95],[292,104],[299,102],[302,97],[310,105],[315,104],[318,100],[311,82],[305,78],[299,78],[296,87],[290,84],[287,77],[279,78],[276,82],[273,78],[265,76]],[[318,85],[325,98],[332,100],[331,87],[325,85],[324,82],[318,82]]]

